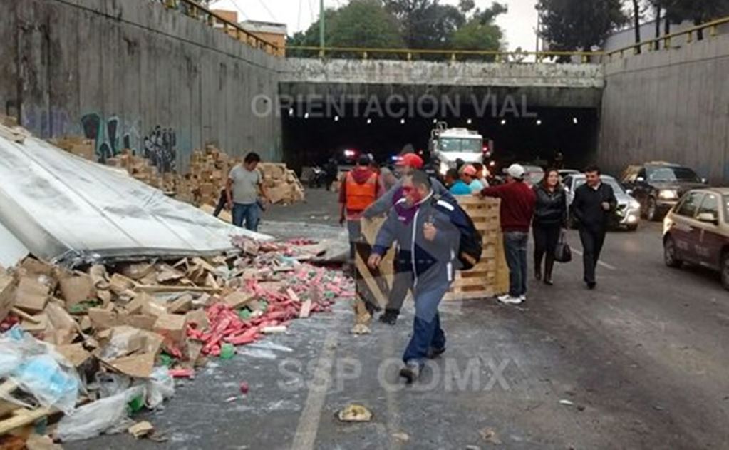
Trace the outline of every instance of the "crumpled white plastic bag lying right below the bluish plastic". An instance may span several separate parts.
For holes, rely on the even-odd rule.
[[[127,403],[142,395],[144,387],[130,387],[112,397],[81,406],[58,422],[55,437],[63,442],[83,441],[112,430],[127,418]]]

